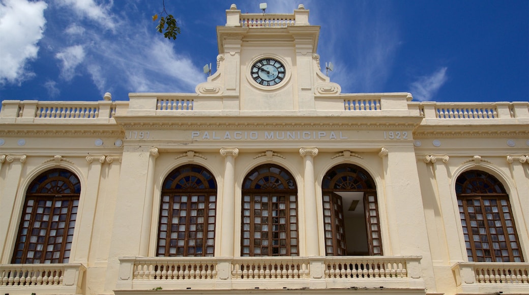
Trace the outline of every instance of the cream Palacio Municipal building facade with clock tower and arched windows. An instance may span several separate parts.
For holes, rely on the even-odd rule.
[[[342,94],[226,11],[196,93],[4,100],[4,294],[529,294],[529,103]]]

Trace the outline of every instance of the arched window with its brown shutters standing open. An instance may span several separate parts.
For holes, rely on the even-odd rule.
[[[322,180],[325,254],[382,255],[375,181],[352,164],[333,167]]]

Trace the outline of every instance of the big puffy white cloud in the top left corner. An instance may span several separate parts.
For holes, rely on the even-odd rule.
[[[20,84],[35,74],[28,62],[37,58],[37,43],[44,31],[42,1],[5,0],[0,2],[0,83]]]

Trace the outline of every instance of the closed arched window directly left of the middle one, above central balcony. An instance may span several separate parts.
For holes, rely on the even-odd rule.
[[[158,256],[213,256],[217,183],[198,165],[184,165],[163,181]]]

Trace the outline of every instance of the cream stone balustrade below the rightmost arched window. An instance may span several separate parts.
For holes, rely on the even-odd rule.
[[[529,290],[529,263],[460,262],[452,266],[452,272],[463,293]]]

